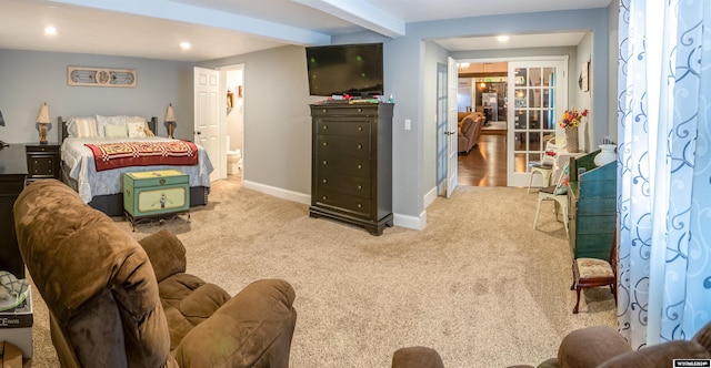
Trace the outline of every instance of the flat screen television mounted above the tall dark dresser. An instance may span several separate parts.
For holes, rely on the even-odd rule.
[[[309,94],[382,95],[382,43],[308,47]]]

